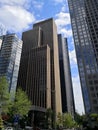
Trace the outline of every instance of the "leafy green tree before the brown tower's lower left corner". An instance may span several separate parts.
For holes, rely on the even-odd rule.
[[[26,92],[21,88],[18,88],[15,94],[15,100],[9,108],[9,112],[11,115],[19,115],[23,117],[28,114],[31,105],[31,101],[28,99]]]

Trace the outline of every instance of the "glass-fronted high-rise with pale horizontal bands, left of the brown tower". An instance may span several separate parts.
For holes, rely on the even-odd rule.
[[[0,36],[0,76],[6,76],[9,92],[16,91],[22,41],[15,35]]]

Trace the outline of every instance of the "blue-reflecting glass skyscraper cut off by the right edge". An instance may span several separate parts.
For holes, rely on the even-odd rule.
[[[98,112],[98,0],[68,0],[85,112]]]

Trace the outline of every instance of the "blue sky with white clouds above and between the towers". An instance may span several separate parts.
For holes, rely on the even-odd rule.
[[[81,114],[84,113],[84,108],[67,0],[0,1],[0,24],[3,24],[8,31],[17,33],[19,36],[23,31],[31,29],[34,23],[51,17],[55,19],[58,33],[68,38],[76,110]]]

